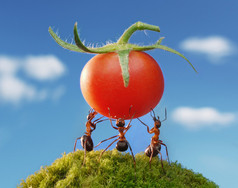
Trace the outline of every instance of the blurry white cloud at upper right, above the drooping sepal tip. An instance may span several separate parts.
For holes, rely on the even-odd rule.
[[[232,55],[235,51],[232,42],[221,36],[191,37],[181,43],[181,48],[186,51],[204,54],[213,61]]]

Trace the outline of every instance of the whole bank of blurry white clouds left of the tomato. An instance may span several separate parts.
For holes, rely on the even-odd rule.
[[[55,86],[54,90],[38,88],[21,78],[19,73],[38,82],[56,80],[66,72],[64,64],[55,56],[28,56],[26,58],[12,58],[0,56],[0,103],[19,104],[22,101],[42,101],[47,98],[55,100],[65,91],[63,86]],[[55,93],[59,93],[55,97]]]

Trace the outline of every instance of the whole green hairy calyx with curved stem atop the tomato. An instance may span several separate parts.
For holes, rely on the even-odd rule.
[[[160,28],[158,26],[154,26],[154,25],[150,25],[150,24],[146,24],[142,22],[136,22],[135,24],[131,25],[127,30],[125,30],[125,32],[122,34],[122,36],[118,39],[116,43],[107,44],[98,48],[90,48],[90,47],[86,47],[83,44],[83,42],[80,40],[78,29],[77,29],[77,22],[74,25],[74,41],[76,45],[63,41],[62,39],[59,38],[59,36],[56,33],[53,32],[51,27],[49,27],[49,33],[54,38],[54,40],[60,46],[68,50],[75,51],[75,52],[82,52],[82,53],[92,53],[92,54],[104,54],[109,52],[116,52],[119,56],[119,62],[120,62],[121,70],[122,70],[122,77],[123,77],[125,87],[128,86],[129,78],[130,78],[128,64],[129,64],[129,53],[131,50],[147,51],[147,50],[153,50],[153,49],[162,49],[162,50],[179,55],[190,64],[190,66],[193,68],[195,72],[197,72],[194,66],[191,64],[191,62],[184,55],[182,55],[181,53],[179,53],[178,51],[172,48],[161,45],[161,42],[164,39],[164,37],[161,37],[155,44],[148,45],[148,46],[139,46],[136,44],[128,43],[132,34],[137,30],[150,30],[150,31],[160,32]]]

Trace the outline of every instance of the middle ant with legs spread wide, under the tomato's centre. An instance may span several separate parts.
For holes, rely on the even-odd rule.
[[[130,109],[131,109],[131,108],[130,108]],[[129,123],[127,124],[126,127],[125,127],[125,120],[124,120],[123,118],[118,118],[118,119],[116,119],[116,126],[117,126],[117,127],[115,127],[115,126],[113,126],[113,124],[112,124],[112,119],[110,118],[110,116],[111,116],[111,115],[110,115],[110,109],[108,108],[108,110],[109,110],[109,120],[110,120],[111,126],[112,126],[112,128],[118,130],[118,131],[119,131],[119,134],[116,135],[116,136],[112,136],[112,137],[110,137],[110,138],[108,138],[108,139],[102,140],[101,142],[99,142],[99,143],[95,146],[95,148],[96,148],[96,147],[98,147],[101,143],[103,143],[103,142],[105,142],[105,141],[107,141],[107,140],[110,140],[110,139],[113,139],[113,138],[118,137],[118,138],[115,139],[111,144],[109,144],[106,149],[104,149],[104,150],[101,152],[100,157],[99,157],[99,161],[100,161],[100,159],[101,159],[103,153],[104,153],[113,143],[115,143],[116,141],[118,141],[117,144],[116,144],[116,149],[117,149],[118,151],[123,152],[123,151],[126,151],[126,150],[128,149],[128,147],[130,148],[130,151],[131,151],[131,154],[132,154],[132,158],[133,158],[133,161],[134,161],[134,166],[135,166],[135,169],[136,169],[136,161],[135,161],[135,157],[134,157],[132,148],[131,148],[129,142],[128,142],[128,141],[126,140],[126,138],[125,138],[126,132],[127,132],[127,131],[131,128],[131,126],[132,126],[132,125],[131,125],[131,121],[132,121],[132,119],[133,119],[133,117],[134,117],[135,114],[131,117],[131,119],[130,119],[130,121],[129,121]],[[129,111],[130,111],[130,110],[129,110]]]

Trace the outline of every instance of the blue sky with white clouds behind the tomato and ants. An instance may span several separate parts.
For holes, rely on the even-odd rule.
[[[160,138],[170,159],[221,187],[237,187],[237,9],[235,0],[1,2],[0,187],[16,187],[72,152],[84,133],[89,106],[79,77],[93,56],[61,48],[48,33],[52,26],[71,42],[76,21],[88,45],[116,41],[136,21],[160,26],[161,33],[136,32],[131,42],[151,44],[163,36],[162,44],[183,53],[199,72],[174,54],[148,52],[165,77],[155,112],[163,118],[168,111]],[[149,115],[142,119],[152,127]],[[151,135],[138,121],[132,124],[126,137],[134,153],[143,152]],[[93,140],[116,134],[103,123]]]

